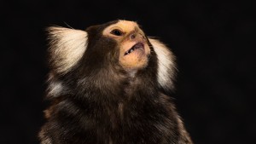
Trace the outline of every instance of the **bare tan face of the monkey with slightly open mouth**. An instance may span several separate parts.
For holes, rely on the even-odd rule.
[[[127,71],[147,66],[150,49],[144,32],[133,21],[119,20],[106,27],[103,36],[111,37],[118,43],[119,64]]]

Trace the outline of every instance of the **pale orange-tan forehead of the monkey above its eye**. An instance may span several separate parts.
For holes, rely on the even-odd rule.
[[[122,32],[132,32],[139,29],[139,26],[134,21],[119,20],[117,23],[106,27],[103,31],[103,35],[111,32],[113,29],[119,29]]]

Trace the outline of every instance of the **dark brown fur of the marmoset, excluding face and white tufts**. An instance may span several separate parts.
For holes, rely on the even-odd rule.
[[[52,67],[49,83],[60,81],[61,95],[49,95],[42,144],[192,144],[169,96],[157,83],[156,54],[134,78],[119,66],[119,48],[91,26],[88,47],[70,72]]]

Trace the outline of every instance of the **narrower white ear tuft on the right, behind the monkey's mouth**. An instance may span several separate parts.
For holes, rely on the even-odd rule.
[[[158,59],[158,84],[163,89],[173,89],[173,80],[175,77],[175,72],[177,71],[174,62],[175,56],[164,43],[152,38],[149,38],[149,42],[152,44]]]

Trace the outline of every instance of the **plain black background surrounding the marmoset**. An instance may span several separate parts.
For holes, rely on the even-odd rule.
[[[39,143],[45,27],[136,20],[177,56],[175,98],[195,144],[256,141],[255,27],[247,1],[1,1],[0,143]]]

